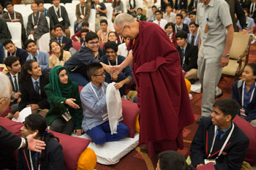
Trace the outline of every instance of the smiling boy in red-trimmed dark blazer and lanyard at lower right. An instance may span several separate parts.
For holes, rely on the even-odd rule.
[[[239,111],[231,98],[215,102],[211,117],[203,117],[190,147],[190,158],[195,167],[214,162],[216,170],[239,170],[246,156],[249,139],[233,123]]]

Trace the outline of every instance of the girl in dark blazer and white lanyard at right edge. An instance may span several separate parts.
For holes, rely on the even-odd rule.
[[[244,67],[241,80],[232,87],[232,98],[240,104],[238,115],[256,126],[256,63]]]

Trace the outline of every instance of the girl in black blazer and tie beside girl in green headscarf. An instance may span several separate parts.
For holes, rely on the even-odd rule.
[[[31,107],[32,113],[39,113],[45,117],[50,105],[45,94],[45,85],[49,83],[48,75],[42,74],[41,67],[37,61],[28,60],[21,69],[21,101],[18,111],[25,107]],[[17,118],[19,112],[14,117]]]

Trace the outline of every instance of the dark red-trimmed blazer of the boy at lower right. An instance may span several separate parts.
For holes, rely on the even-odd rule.
[[[216,165],[214,166],[216,170],[240,170],[241,165],[244,161],[246,151],[249,146],[249,139],[247,138],[244,131],[242,131],[234,123],[234,130],[228,140],[222,155],[216,160]],[[211,122],[211,117],[203,117],[200,122],[197,132],[194,136],[190,147],[190,158],[193,166],[197,166],[200,163],[204,164],[204,159],[208,157],[211,150],[211,144],[214,139],[214,126]],[[231,127],[232,128],[232,127]],[[219,150],[225,143],[231,128],[226,132],[222,139],[217,142],[216,146],[211,152],[211,157],[209,159],[217,158]],[[207,138],[208,137],[208,138]]]

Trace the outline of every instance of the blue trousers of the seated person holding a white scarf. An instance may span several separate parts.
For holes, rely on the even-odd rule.
[[[129,134],[129,128],[124,123],[119,122],[117,125],[117,134],[111,134],[109,121],[97,125],[91,130],[86,131],[95,144],[105,144],[105,142],[118,141]]]

